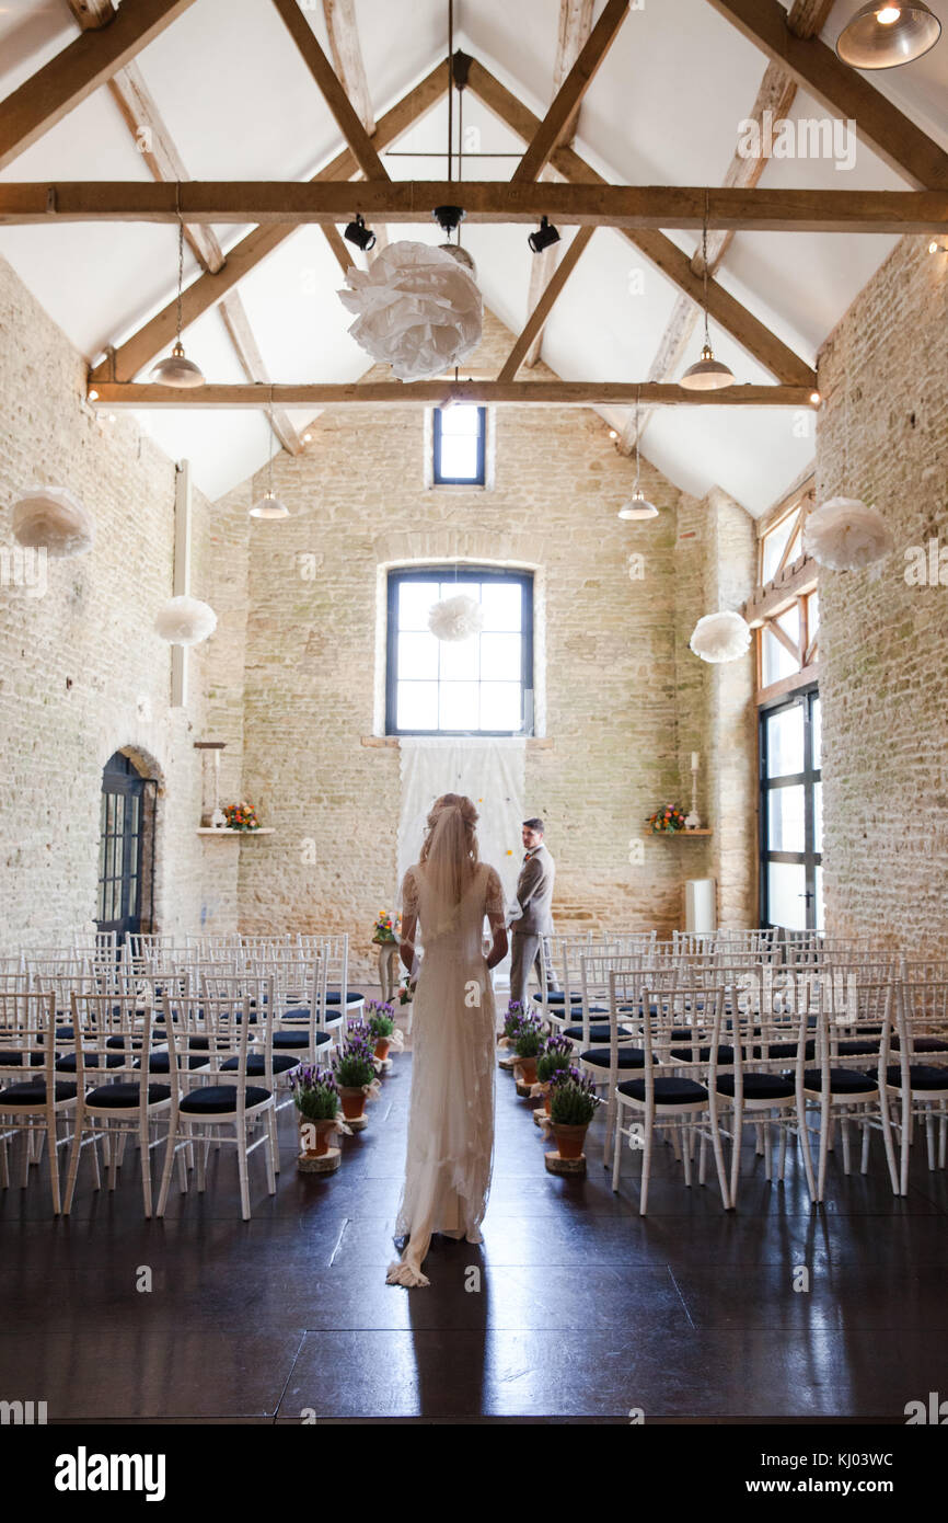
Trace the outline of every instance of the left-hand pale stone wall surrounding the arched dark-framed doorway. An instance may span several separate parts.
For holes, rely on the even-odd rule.
[[[84,358],[0,260],[0,953],[91,929],[102,766],[117,749],[160,781],[155,923],[236,915],[242,848],[195,833],[193,742],[218,637],[192,652],[192,701],[172,710],[169,646],[152,631],[172,592],[175,466],[131,416],[97,419],[84,393]],[[96,519],[93,551],[49,560],[41,597],[11,585],[11,506],[30,481],[70,487]],[[212,603],[215,541],[196,495],[192,591]]]

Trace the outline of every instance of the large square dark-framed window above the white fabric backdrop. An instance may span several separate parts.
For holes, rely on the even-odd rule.
[[[482,629],[438,640],[431,608],[467,595]],[[533,734],[533,576],[481,567],[388,574],[385,730],[390,736]]]

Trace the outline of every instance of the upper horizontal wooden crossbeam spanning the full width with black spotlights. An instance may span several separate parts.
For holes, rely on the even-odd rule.
[[[572,149],[557,149],[578,158]],[[533,224],[543,213],[565,227],[615,227],[656,247],[660,228],[709,227],[756,233],[945,233],[945,190],[747,190],[743,186],[520,184],[504,180],[64,180],[0,183],[0,222],[341,222],[353,203],[367,219],[428,221],[447,195],[469,222]],[[651,256],[650,256],[651,257]],[[691,260],[685,257],[689,265]],[[694,276],[694,271],[692,271]],[[700,283],[700,282],[698,282]]]

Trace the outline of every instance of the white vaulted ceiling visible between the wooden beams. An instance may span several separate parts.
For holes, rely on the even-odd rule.
[[[126,0],[128,3],[128,0]],[[595,6],[598,15],[604,0]],[[948,0],[931,0],[945,26],[924,59],[875,73],[872,84],[948,148]],[[832,43],[855,0],[834,6],[823,40]],[[321,5],[304,6],[321,44]],[[542,116],[554,93],[558,0],[455,0],[455,46],[478,58]],[[447,53],[447,0],[356,0],[359,43],[376,116]],[[67,0],[21,0],[0,8],[0,96],[37,72],[76,35]],[[192,178],[298,180],[342,146],[339,131],[283,21],[268,0],[196,0],[137,56],[164,123]],[[630,11],[589,88],[575,148],[615,183],[721,184],[740,122],[752,111],[767,59],[706,0],[648,0]],[[823,116],[799,91],[791,117]],[[464,93],[466,142],[481,154],[467,178],[508,178],[522,142]],[[446,104],[383,152],[393,178],[444,178]],[[438,154],[441,157],[428,157]],[[20,155],[3,180],[149,180],[149,172],[107,87]],[[855,164],[771,158],[764,187],[898,189],[904,181],[861,142]],[[460,196],[463,201],[463,195]],[[355,201],[353,201],[355,212]],[[248,228],[215,230],[227,251]],[[402,238],[440,242],[434,224],[402,227]],[[563,248],[574,236],[563,230]],[[691,253],[692,235],[670,233]],[[528,317],[531,253],[522,225],[464,228],[485,305],[511,329]],[[738,233],[717,279],[808,364],[895,239],[861,235]],[[3,227],[0,253],[94,362],[173,295],[177,238],[167,225],[65,224]],[[641,274],[639,274],[641,271]],[[186,282],[199,267],[186,250]],[[633,274],[636,276],[633,279]],[[341,271],[318,227],[286,239],[239,285],[240,300],[274,381],[355,381],[367,356],[347,334],[338,300]],[[571,276],[543,337],[543,359],[565,379],[645,379],[679,295],[621,235],[598,228]],[[773,378],[727,334],[715,353],[738,381]],[[219,312],[186,329],[189,355],[208,381],[243,381]],[[695,330],[694,358],[700,347]],[[151,369],[151,366],[149,366]],[[520,372],[530,375],[530,372]],[[627,411],[604,416],[622,426]],[[300,425],[304,414],[294,414]],[[143,413],[143,425],[175,458],[192,461],[212,498],[245,480],[266,458],[262,416],[227,411]],[[813,433],[788,410],[663,408],[644,434],[644,452],[680,487],[721,486],[759,515],[813,460]]]

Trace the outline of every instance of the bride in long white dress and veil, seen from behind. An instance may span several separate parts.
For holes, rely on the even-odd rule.
[[[428,1285],[432,1232],[481,1243],[493,1164],[496,1016],[490,969],[507,955],[504,896],[478,857],[478,812],[444,793],[428,816],[415,867],[402,883],[402,961],[411,969],[420,923],[425,956],[412,1014],[405,1188],[396,1223],[408,1234],[390,1285]],[[491,929],[484,955],[484,917]]]

